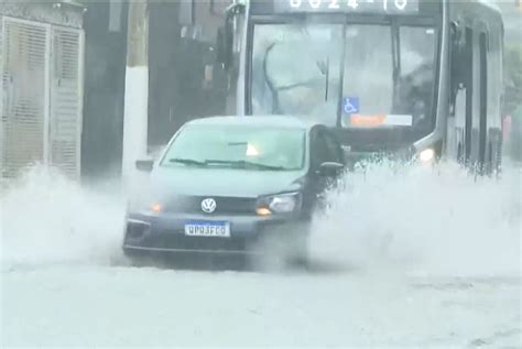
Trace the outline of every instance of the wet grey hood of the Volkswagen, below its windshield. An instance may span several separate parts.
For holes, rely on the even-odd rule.
[[[257,197],[301,187],[304,171],[237,168],[155,168],[151,188],[157,195]]]

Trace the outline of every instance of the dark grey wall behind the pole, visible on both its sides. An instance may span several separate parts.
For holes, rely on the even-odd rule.
[[[222,25],[219,11],[229,2],[217,1],[221,4],[215,14],[209,1],[196,1],[195,22],[185,30],[180,1],[149,3],[150,151],[164,144],[185,121],[225,112],[224,72],[214,70],[213,81],[205,83],[205,66],[214,62],[216,32]],[[83,175],[113,176],[120,174],[122,160],[128,7],[116,21],[120,30],[110,31],[116,14],[109,1],[83,3],[87,7]]]

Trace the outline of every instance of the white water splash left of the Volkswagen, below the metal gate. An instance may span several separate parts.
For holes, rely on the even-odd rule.
[[[108,186],[116,188],[115,186]],[[2,268],[110,263],[119,255],[124,201],[34,167],[0,196]]]

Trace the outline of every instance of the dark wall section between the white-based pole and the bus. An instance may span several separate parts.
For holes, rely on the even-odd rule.
[[[225,113],[226,75],[213,66],[222,17],[210,13],[209,1],[196,1],[194,19],[193,25],[181,23],[175,2],[150,4],[151,148],[164,144],[187,120]],[[210,81],[205,80],[206,69],[213,69]]]

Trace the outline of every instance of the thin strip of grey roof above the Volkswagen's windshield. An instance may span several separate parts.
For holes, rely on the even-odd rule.
[[[202,124],[202,126],[259,126],[259,127],[275,127],[275,128],[294,128],[309,130],[317,122],[303,120],[296,116],[215,116],[194,119],[186,122],[186,124]]]

